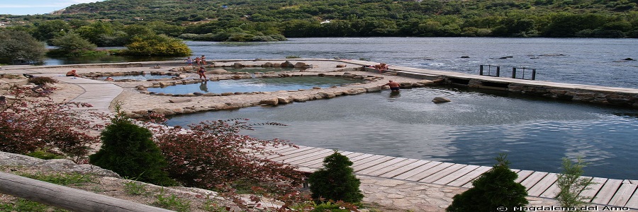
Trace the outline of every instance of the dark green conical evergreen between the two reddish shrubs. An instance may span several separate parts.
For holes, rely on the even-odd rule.
[[[164,156],[152,141],[151,131],[116,115],[101,133],[102,146],[89,156],[93,165],[113,170],[122,177],[136,177],[141,182],[175,184],[162,168]]]

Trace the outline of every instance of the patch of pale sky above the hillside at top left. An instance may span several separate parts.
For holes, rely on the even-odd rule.
[[[35,15],[57,11],[73,4],[104,0],[0,0],[0,14]]]

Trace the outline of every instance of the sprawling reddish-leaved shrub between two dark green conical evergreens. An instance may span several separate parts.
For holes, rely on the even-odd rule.
[[[276,123],[263,123],[280,125]],[[250,188],[252,194],[297,201],[301,194],[301,172],[295,167],[270,160],[273,155],[267,146],[293,146],[279,139],[261,140],[242,136],[240,130],[251,130],[254,124],[245,119],[206,121],[191,124],[188,129],[180,126],[154,126],[155,141],[169,163],[169,176],[188,187],[216,189],[223,196],[233,199],[240,208],[257,204],[258,196],[251,203],[236,194],[236,189]]]

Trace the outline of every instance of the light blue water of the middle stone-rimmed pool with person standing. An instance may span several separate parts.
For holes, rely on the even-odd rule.
[[[228,93],[228,92],[266,92],[278,90],[312,89],[313,87],[329,88],[342,84],[359,83],[362,80],[352,78],[320,77],[320,76],[294,76],[271,78],[247,78],[239,80],[206,81],[202,83],[167,86],[164,88],[148,88],[155,93]]]

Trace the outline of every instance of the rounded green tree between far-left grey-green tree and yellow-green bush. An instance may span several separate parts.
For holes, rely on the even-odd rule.
[[[52,52],[62,55],[79,55],[83,52],[94,51],[96,48],[96,45],[82,38],[77,33],[69,33],[64,36],[55,37],[51,40],[51,43],[57,47],[57,49]]]

